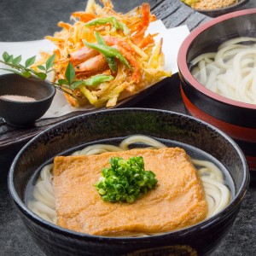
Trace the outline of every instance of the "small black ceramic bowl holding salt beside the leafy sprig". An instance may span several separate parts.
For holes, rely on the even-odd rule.
[[[26,96],[34,102],[15,101],[2,96]],[[32,125],[48,110],[55,87],[37,78],[25,79],[18,74],[9,73],[0,76],[0,116],[13,126]]]

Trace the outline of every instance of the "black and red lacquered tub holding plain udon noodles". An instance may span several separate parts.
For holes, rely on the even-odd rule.
[[[223,15],[191,32],[177,57],[183,102],[189,113],[235,139],[252,171],[256,171],[256,105],[233,101],[208,90],[190,73],[189,63],[197,55],[216,51],[227,39],[255,37],[255,32],[256,9]]]

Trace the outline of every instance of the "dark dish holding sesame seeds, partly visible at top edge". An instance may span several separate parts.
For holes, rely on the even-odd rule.
[[[247,3],[249,0],[238,0],[237,3],[232,4],[230,6],[219,8],[219,9],[195,9],[196,11],[200,12],[203,15],[207,15],[209,17],[218,17],[220,15],[225,15],[230,12],[234,12],[237,9],[241,8],[245,3]]]

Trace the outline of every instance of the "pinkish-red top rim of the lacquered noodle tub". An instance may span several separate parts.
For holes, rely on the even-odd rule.
[[[194,42],[195,38],[198,37],[202,32],[205,32],[208,28],[215,26],[224,20],[230,20],[238,16],[253,15],[253,14],[256,14],[256,9],[244,9],[244,10],[236,11],[227,15],[219,16],[218,18],[209,20],[205,24],[195,28],[195,30],[192,31],[189,34],[189,36],[184,39],[183,44],[178,50],[177,66],[179,69],[179,73],[183,77],[183,79],[185,79],[188,84],[193,86],[195,90],[200,91],[202,94],[214,99],[215,101],[222,102],[231,106],[256,110],[256,104],[249,104],[245,102],[234,101],[224,96],[220,96],[217,93],[212,92],[212,90],[208,90],[205,86],[200,84],[194,78],[194,76],[190,73],[189,67],[187,64],[187,54],[189,51],[189,47]]]

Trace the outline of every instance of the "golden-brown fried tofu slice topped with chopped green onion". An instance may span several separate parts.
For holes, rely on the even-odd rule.
[[[143,156],[145,170],[156,174],[155,189],[133,204],[102,201],[94,185],[111,157]],[[182,148],[57,156],[53,183],[57,224],[96,236],[139,236],[179,230],[207,217],[200,178]]]

